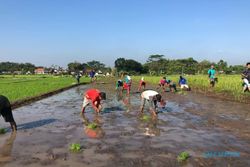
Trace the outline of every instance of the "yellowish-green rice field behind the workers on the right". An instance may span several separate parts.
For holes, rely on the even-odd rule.
[[[178,83],[179,76],[166,76],[167,79]],[[206,75],[189,75],[185,76],[191,88],[199,90],[204,93],[214,93],[218,96],[227,96],[236,101],[245,101],[250,99],[250,93],[242,92],[242,80],[240,75],[218,75],[218,83],[212,89],[209,85],[209,80]],[[140,80],[141,76],[133,77],[134,80]],[[161,77],[158,76],[144,76],[147,82],[158,84]]]

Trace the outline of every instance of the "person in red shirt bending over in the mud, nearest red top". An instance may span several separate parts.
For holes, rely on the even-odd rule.
[[[98,89],[87,90],[83,96],[82,113],[84,113],[85,108],[90,103],[92,104],[93,109],[97,113],[99,113],[102,109],[101,100],[105,99],[106,99],[106,93],[100,92]]]

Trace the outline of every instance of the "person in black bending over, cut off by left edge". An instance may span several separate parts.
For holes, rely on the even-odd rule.
[[[9,122],[12,131],[17,130],[16,122],[13,118],[10,101],[7,97],[0,95],[0,116],[3,116],[5,122]]]

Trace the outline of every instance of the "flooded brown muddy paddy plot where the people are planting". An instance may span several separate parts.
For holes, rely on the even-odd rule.
[[[81,96],[90,87],[105,91],[107,100],[102,114],[89,107],[83,119]],[[0,166],[250,165],[249,105],[193,92],[162,95],[168,100],[166,108],[158,119],[149,120],[137,115],[140,94],[117,94],[113,81],[80,86],[18,108],[18,132],[0,135]],[[96,130],[85,126],[90,122],[98,125]],[[8,126],[1,120],[0,127]],[[71,143],[80,143],[81,152],[69,151]],[[185,163],[176,160],[182,151],[191,155]],[[208,151],[239,152],[240,157],[206,158]]]

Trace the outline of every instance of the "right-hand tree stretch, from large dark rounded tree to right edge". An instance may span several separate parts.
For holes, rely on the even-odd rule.
[[[238,74],[245,68],[243,65],[228,66],[224,60],[217,63],[208,60],[198,62],[192,57],[171,60],[166,59],[164,55],[150,55],[144,64],[131,59],[118,58],[115,61],[115,68],[118,72],[132,74],[207,74],[207,70],[212,64],[219,73],[225,74]]]

